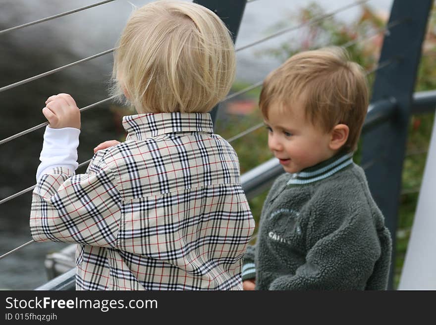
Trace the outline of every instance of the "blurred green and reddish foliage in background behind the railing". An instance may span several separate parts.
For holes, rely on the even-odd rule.
[[[311,3],[301,9],[297,15],[287,17],[284,22],[272,26],[276,31],[288,27],[290,23],[301,24],[314,17],[326,14],[318,4]],[[280,46],[258,52],[258,55],[274,56],[284,61],[294,53],[302,50],[314,49],[322,46],[336,45],[347,48],[353,61],[358,62],[368,71],[368,83],[374,79],[372,70],[377,69],[380,50],[388,13],[376,13],[371,7],[362,5],[360,17],[352,22],[340,21],[329,17],[322,21],[310,24],[292,34],[287,42]],[[436,18],[432,13],[429,31],[423,46],[423,57],[419,66],[415,91],[436,89],[435,52],[436,44]],[[406,43],[405,43],[406,46]],[[233,91],[240,91],[250,85],[235,83]],[[237,100],[251,100],[257,106],[260,88],[237,97]],[[224,104],[225,105],[225,104]],[[216,132],[229,139],[263,121],[258,107],[248,115],[222,114],[218,117]],[[394,288],[397,287],[404,255],[407,249],[413,218],[418,201],[419,188],[426,163],[427,150],[433,128],[434,113],[413,116],[409,127],[409,137],[406,144],[406,158],[402,175],[402,189],[399,197],[398,230],[396,242],[396,260],[394,261]],[[241,174],[251,168],[272,158],[267,147],[267,132],[260,128],[249,135],[232,142],[239,156]],[[360,148],[355,156],[358,162]],[[263,201],[267,192],[249,201],[257,224],[261,213]],[[256,232],[256,231],[255,231]]]

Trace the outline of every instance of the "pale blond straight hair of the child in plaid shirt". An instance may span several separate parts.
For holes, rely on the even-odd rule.
[[[229,92],[235,51],[211,10],[160,0],[130,16],[115,49],[112,94],[138,113],[208,112]]]

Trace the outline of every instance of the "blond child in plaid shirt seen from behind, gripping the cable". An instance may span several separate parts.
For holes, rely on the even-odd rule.
[[[125,142],[74,175],[80,113],[48,98],[30,229],[77,243],[77,290],[237,290],[254,221],[233,148],[208,113],[228,93],[233,43],[209,9],[156,1],[129,18],[115,52]]]

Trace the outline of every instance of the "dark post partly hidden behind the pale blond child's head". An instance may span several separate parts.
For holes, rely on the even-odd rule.
[[[246,0],[194,0],[194,2],[215,12],[232,33],[233,43],[236,42],[242,15],[244,14]],[[218,105],[215,106],[211,112],[214,125],[217,111]]]

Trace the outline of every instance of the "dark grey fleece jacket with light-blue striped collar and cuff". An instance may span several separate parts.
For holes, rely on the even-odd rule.
[[[340,154],[277,178],[242,279],[257,290],[383,290],[391,245],[364,171]]]

